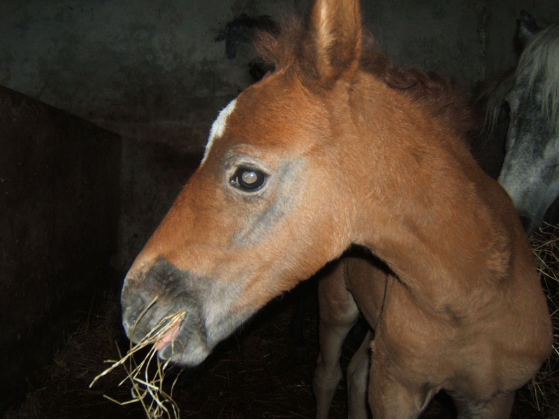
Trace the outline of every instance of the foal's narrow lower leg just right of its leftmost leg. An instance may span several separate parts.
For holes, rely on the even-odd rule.
[[[370,342],[372,332],[368,331],[358,351],[347,366],[347,407],[349,419],[367,419],[367,383],[370,367]]]

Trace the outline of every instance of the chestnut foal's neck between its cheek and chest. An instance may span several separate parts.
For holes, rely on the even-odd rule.
[[[369,124],[355,135],[369,168],[368,191],[359,193],[365,210],[356,242],[382,258],[417,297],[435,304],[500,280],[510,238],[495,200],[507,198],[477,166],[465,140],[395,94],[371,99],[368,109]]]

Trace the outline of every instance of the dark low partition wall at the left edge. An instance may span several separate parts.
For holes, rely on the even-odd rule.
[[[0,416],[119,287],[120,158],[117,135],[0,87]]]

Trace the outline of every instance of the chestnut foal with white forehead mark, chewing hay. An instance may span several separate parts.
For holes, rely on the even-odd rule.
[[[156,348],[198,365],[356,245],[379,263],[320,285],[324,324],[358,309],[375,328],[351,360],[351,395],[375,418],[417,418],[440,390],[460,418],[509,416],[551,353],[551,320],[514,206],[466,144],[453,85],[393,64],[358,0],[316,0],[305,24],[263,34],[257,50],[275,71],[219,112],[201,165],[126,274],[128,337],[185,311]]]

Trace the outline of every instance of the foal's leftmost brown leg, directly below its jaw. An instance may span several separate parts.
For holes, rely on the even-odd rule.
[[[317,398],[317,418],[328,418],[335,390],[342,378],[342,344],[357,321],[359,311],[344,278],[344,261],[338,260],[319,279],[320,354],[312,388]]]

